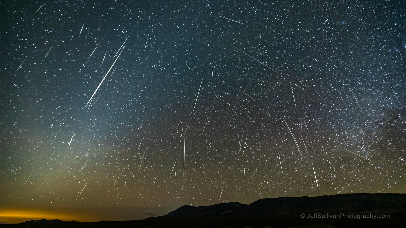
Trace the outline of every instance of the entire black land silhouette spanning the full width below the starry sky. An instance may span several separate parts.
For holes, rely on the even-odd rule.
[[[300,215],[304,214],[304,218]],[[389,215],[390,218],[326,218],[346,215]],[[310,218],[309,215],[319,218]],[[406,194],[341,194],[317,197],[279,197],[211,206],[181,206],[160,216],[134,221],[58,222],[44,219],[4,227],[403,227],[406,221]],[[40,223],[43,221],[42,223]],[[52,220],[54,221],[54,220]],[[60,220],[59,220],[60,221]],[[322,225],[321,225],[322,224]]]

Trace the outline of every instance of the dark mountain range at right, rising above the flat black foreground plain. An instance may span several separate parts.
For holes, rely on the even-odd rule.
[[[158,218],[232,217],[243,215],[309,214],[400,214],[406,213],[405,194],[340,194],[317,197],[279,197],[257,200],[249,205],[239,202],[211,206],[181,206]]]

